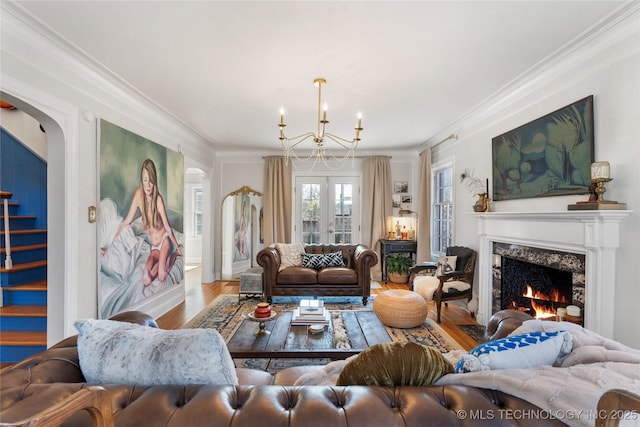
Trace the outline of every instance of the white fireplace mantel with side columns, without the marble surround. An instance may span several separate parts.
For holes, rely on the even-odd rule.
[[[478,220],[478,322],[491,317],[492,244],[511,243],[585,254],[584,326],[613,338],[619,224],[633,211],[487,212]]]

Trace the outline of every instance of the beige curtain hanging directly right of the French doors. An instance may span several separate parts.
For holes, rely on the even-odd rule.
[[[362,241],[380,254],[380,239],[387,235],[387,218],[393,215],[391,166],[388,156],[365,157],[362,162]],[[381,260],[371,269],[373,280],[382,279]]]

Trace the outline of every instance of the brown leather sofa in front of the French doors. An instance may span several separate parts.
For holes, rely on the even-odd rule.
[[[378,255],[365,245],[305,245],[308,254],[342,251],[344,267],[314,270],[287,267],[280,271],[280,254],[276,248],[258,253],[263,268],[264,293],[268,302],[274,296],[361,296],[366,305],[371,295],[371,267]]]

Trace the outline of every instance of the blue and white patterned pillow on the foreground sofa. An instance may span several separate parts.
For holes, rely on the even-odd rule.
[[[571,352],[566,331],[530,332],[480,344],[457,363],[456,373],[553,365]]]

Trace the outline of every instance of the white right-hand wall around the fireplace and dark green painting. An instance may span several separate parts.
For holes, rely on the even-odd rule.
[[[637,265],[640,261],[640,17],[626,17],[576,49],[571,56],[547,64],[535,75],[508,88],[443,135],[457,133],[433,152],[433,161],[453,156],[455,177],[465,168],[475,169],[480,178],[491,177],[491,138],[594,95],[595,160],[608,160],[614,178],[607,185],[606,199],[627,203],[634,210],[621,224],[615,292],[615,339],[640,348],[637,306],[640,302]],[[455,242],[477,247],[476,221],[472,212],[474,195],[455,180]],[[494,202],[491,210],[565,211],[567,205],[586,196],[545,197]]]

